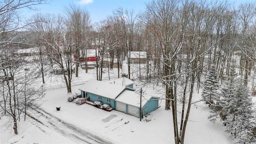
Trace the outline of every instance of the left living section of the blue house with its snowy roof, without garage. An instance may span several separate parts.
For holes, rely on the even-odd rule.
[[[115,99],[124,90],[131,90],[125,86],[109,84],[102,81],[87,81],[81,88],[82,98],[89,98],[90,101],[100,101],[103,104],[108,104],[110,107],[115,108]]]

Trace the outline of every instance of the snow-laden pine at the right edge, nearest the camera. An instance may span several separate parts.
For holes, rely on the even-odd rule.
[[[253,113],[249,90],[240,80],[236,84],[235,95],[229,102],[225,120],[226,131],[237,138],[239,143],[255,141],[255,135],[252,133],[252,129],[255,127]]]

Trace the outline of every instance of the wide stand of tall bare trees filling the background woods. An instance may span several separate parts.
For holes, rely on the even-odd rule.
[[[73,76],[79,76],[79,62],[74,59],[74,54],[77,58],[87,57],[87,50],[94,49],[95,56],[100,58],[96,65],[96,77],[102,81],[104,59],[109,59],[110,69],[113,69],[114,59],[117,59],[118,77],[123,69],[123,61],[127,61],[128,77],[131,78],[131,51],[146,51],[147,61],[145,66],[139,68],[139,80],[146,84],[164,86],[165,109],[172,110],[174,141],[177,144],[185,142],[191,105],[195,103],[193,95],[211,80],[212,77],[207,80],[209,69],[215,68],[214,85],[225,84],[234,70],[232,63],[235,63],[239,71],[237,77],[242,81],[239,82],[239,87],[247,87],[247,90],[236,90],[234,97],[239,98],[241,91],[249,94],[247,91],[254,89],[254,3],[241,4],[234,8],[234,5],[226,1],[155,0],[147,3],[146,10],[142,13],[135,14],[133,10],[119,7],[105,20],[97,23],[91,23],[90,13],[85,9],[69,5],[65,7],[62,15],[36,14],[17,29],[13,24],[13,21],[19,20],[14,14],[17,10],[3,10],[6,4],[19,8],[19,3],[13,1],[8,5],[7,2],[9,1],[0,3],[3,7],[0,9],[1,73],[11,70],[5,63],[17,65],[13,61],[17,58],[9,57],[12,55],[9,50],[23,45],[36,47],[38,63],[35,65],[42,83],[45,83],[45,73],[49,69],[61,69],[67,92],[70,93]],[[30,7],[45,1],[22,2],[24,4],[21,7]],[[6,51],[9,51],[9,55],[6,55]],[[141,70],[145,73],[141,73]],[[15,76],[11,77],[14,80],[8,81],[14,82]],[[6,83],[3,85],[8,86]],[[211,89],[214,89],[211,90],[211,98],[208,99],[207,93],[203,92],[203,100],[207,98],[210,108],[215,111],[213,114],[221,117],[223,111],[220,113],[217,110],[217,113],[213,107],[221,103],[215,98],[225,99],[220,97],[224,94],[218,92],[219,88]],[[11,97],[15,99],[18,95],[3,94],[4,101]],[[232,103],[229,100],[226,102]],[[179,103],[182,105],[181,111],[178,109]],[[234,131],[231,133],[234,134]]]

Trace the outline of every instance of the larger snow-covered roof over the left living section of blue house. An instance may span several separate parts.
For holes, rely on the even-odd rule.
[[[95,80],[87,81],[79,88],[81,91],[101,95],[110,99],[115,99],[124,89],[125,86]]]

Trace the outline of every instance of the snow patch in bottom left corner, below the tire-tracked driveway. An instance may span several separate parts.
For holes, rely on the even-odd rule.
[[[10,125],[10,117],[1,117],[0,120],[0,143],[74,143],[67,137],[55,132],[49,127],[42,126],[34,119],[27,117],[26,121],[18,123],[18,135],[13,134]]]

